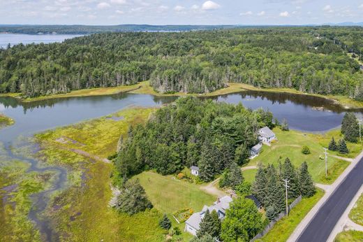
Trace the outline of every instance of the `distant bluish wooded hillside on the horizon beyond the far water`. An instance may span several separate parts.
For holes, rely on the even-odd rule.
[[[235,25],[148,25],[148,24],[121,24],[121,25],[16,25],[0,24],[0,33],[13,34],[96,34],[103,32],[126,31],[193,31],[209,29],[231,29]]]

